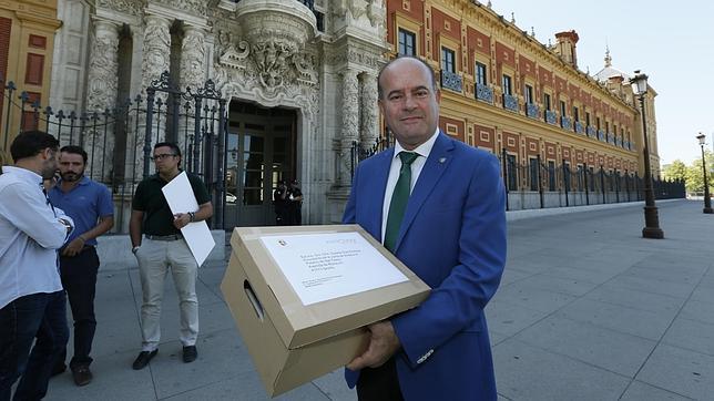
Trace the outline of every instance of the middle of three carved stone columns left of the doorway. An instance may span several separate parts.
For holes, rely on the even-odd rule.
[[[146,102],[146,88],[149,88],[152,81],[156,81],[161,78],[161,74],[164,71],[169,71],[170,68],[170,58],[171,58],[171,33],[169,29],[171,28],[172,21],[167,18],[146,14],[144,17],[144,40],[143,40],[143,59],[142,59],[142,92],[144,96],[144,106],[149,106]],[[164,92],[156,92],[155,100],[161,99],[165,104],[166,94]],[[155,109],[154,109],[155,112]],[[152,121],[152,137],[151,144],[153,146],[159,141],[163,141],[164,128],[166,126],[166,114],[165,106],[161,113],[161,121],[159,122],[161,128],[160,132],[156,132],[156,125],[159,117],[156,113],[153,114]],[[139,131],[135,135],[135,144],[133,151],[136,152],[136,171],[139,172],[139,178],[142,176],[144,168],[144,155],[146,152],[151,153],[151,148],[144,148],[145,146],[145,131],[146,130],[146,115],[141,114],[139,117]],[[150,168],[153,168],[151,164]]]

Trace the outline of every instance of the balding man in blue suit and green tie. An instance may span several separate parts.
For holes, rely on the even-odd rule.
[[[438,130],[434,71],[399,58],[379,73],[397,142],[359,164],[344,223],[357,223],[431,288],[420,306],[369,326],[345,371],[359,400],[496,400],[483,308],[506,263],[498,160]]]

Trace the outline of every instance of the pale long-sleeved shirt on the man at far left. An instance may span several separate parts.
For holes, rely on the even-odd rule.
[[[0,308],[39,292],[62,289],[57,249],[68,238],[60,218],[42,193],[42,177],[20,167],[0,174]]]

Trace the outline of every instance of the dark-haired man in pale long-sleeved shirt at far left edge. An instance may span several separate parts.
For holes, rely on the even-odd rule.
[[[16,165],[0,175],[0,400],[20,376],[16,400],[43,398],[69,338],[57,249],[74,223],[42,186],[57,171],[58,147],[50,134],[24,132],[10,146]]]

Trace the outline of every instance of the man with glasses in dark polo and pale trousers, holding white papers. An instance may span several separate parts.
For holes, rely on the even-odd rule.
[[[139,261],[142,288],[142,350],[132,364],[135,370],[145,368],[159,351],[161,299],[164,278],[170,266],[181,309],[183,361],[188,363],[196,360],[198,356],[196,351],[198,265],[181,235],[181,228],[188,223],[205,220],[213,216],[208,192],[201,178],[193,174],[186,175],[198,203],[198,209],[176,215],[171,213],[161,188],[181,173],[178,146],[170,142],[157,143],[154,145],[152,160],[156,163],[156,174],[145,178],[136,187],[129,223],[132,253]]]

